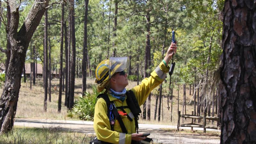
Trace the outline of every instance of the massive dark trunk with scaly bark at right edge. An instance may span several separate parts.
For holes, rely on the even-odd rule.
[[[220,143],[256,141],[255,16],[255,1],[225,1],[220,67]]]

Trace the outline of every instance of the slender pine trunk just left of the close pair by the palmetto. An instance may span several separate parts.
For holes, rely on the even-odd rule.
[[[61,27],[60,27],[60,86],[59,86],[59,100],[58,100],[58,113],[61,111],[61,96],[62,96],[62,67],[63,67],[63,34],[64,34],[64,3],[61,4]]]

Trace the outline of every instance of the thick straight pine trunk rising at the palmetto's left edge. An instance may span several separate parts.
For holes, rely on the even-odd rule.
[[[71,16],[71,43],[72,43],[72,55],[70,63],[70,97],[69,97],[69,109],[74,106],[74,90],[75,90],[75,68],[76,68],[76,36],[75,36],[75,6],[74,1],[70,2],[70,16]]]

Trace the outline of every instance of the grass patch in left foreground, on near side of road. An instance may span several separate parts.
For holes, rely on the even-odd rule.
[[[25,128],[15,126],[0,135],[0,144],[88,144],[94,135],[59,131],[58,128]]]

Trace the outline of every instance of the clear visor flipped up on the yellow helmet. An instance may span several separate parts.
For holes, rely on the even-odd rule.
[[[109,59],[109,78],[116,72],[123,71],[130,65],[130,59],[128,57],[110,57]]]

